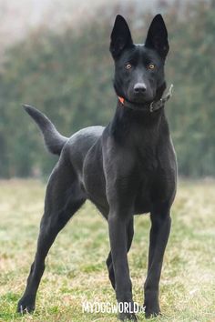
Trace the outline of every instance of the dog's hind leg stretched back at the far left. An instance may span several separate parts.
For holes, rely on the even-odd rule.
[[[46,189],[45,212],[41,220],[36,257],[27,278],[26,291],[18,302],[18,312],[35,309],[36,291],[45,270],[46,255],[58,232],[67,224],[86,197],[68,161],[59,160]]]

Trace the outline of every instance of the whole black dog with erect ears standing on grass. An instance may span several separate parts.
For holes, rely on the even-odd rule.
[[[169,238],[170,207],[176,193],[177,166],[162,98],[168,33],[161,15],[153,19],[145,45],[134,45],[125,19],[118,15],[111,34],[118,105],[107,127],[93,126],[61,136],[34,107],[26,106],[43,132],[50,152],[59,155],[47,185],[35,261],[18,311],[35,308],[45,258],[57,233],[86,199],[107,219],[109,279],[118,302],[130,310],[121,320],[136,320],[128,250],[133,216],[150,213],[148,276],[144,285],[146,317],[159,315],[159,277]]]

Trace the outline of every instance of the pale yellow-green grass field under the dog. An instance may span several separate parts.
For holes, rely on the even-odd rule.
[[[115,303],[107,278],[107,224],[87,203],[59,234],[46,260],[34,315],[15,313],[36,248],[45,185],[0,182],[0,321],[117,321],[83,313],[82,303]],[[160,281],[162,317],[148,321],[215,321],[215,182],[181,182]],[[148,216],[137,216],[129,252],[134,300],[142,304]],[[144,321],[142,314],[139,321]]]

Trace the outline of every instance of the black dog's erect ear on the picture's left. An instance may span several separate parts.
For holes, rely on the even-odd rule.
[[[117,58],[126,47],[133,45],[130,30],[122,15],[117,15],[112,33],[110,35],[110,53]]]

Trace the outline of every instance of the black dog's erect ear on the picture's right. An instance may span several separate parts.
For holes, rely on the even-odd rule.
[[[168,31],[162,15],[156,15],[148,29],[145,45],[155,49],[165,59],[169,52]]]

